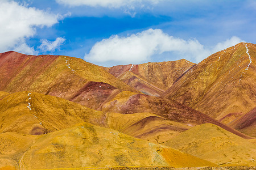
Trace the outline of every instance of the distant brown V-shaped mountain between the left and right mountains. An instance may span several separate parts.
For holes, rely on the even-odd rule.
[[[195,63],[180,59],[140,65],[119,65],[105,69],[143,94],[159,96],[193,65]]]

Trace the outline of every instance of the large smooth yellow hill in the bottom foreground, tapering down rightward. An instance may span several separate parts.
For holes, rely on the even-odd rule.
[[[88,123],[42,135],[20,163],[24,169],[214,165],[172,148]]]

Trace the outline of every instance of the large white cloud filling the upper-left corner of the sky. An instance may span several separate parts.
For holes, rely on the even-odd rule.
[[[59,16],[14,1],[0,2],[0,51],[16,50],[35,54],[26,39],[36,34],[36,27],[51,27]]]

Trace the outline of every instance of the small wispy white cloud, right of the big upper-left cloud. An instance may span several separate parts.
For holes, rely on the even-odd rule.
[[[63,45],[65,39],[62,37],[57,37],[55,41],[48,41],[46,39],[41,40],[42,44],[38,47],[42,52],[53,52]]]

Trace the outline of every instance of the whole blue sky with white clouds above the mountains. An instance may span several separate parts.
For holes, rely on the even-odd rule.
[[[255,42],[256,1],[2,0],[0,52],[79,57],[101,66],[200,62]]]

